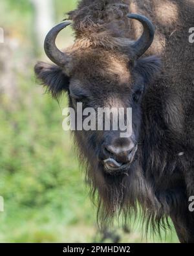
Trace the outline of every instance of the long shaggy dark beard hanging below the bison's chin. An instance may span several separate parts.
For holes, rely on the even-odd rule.
[[[141,213],[142,224],[146,224],[146,235],[149,230],[153,235],[160,235],[161,228],[166,231],[170,228],[167,220],[169,205],[166,195],[157,198],[153,186],[144,177],[140,156],[137,152],[135,161],[125,173],[107,174],[96,156],[98,152],[87,143],[83,148],[80,137],[76,136],[75,146],[80,164],[85,172],[85,181],[89,185],[92,202],[97,206],[98,227],[113,226],[115,218],[122,220],[127,226],[133,218]],[[174,201],[176,206],[176,202]],[[120,218],[121,217],[121,218]]]

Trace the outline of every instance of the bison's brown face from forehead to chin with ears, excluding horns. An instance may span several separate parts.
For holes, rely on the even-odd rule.
[[[63,91],[69,95],[69,106],[78,113],[80,103],[83,123],[91,112],[83,115],[87,109],[96,115],[89,122],[94,128],[74,131],[81,155],[89,164],[98,167],[106,174],[124,174],[129,171],[136,159],[142,120],[142,100],[147,86],[151,84],[158,72],[159,60],[156,57],[142,58],[130,62],[128,56],[121,52],[100,51],[100,49],[76,52],[72,54],[72,69],[68,75],[56,66],[39,63],[36,74],[57,97]],[[110,127],[105,129],[105,115],[100,117],[99,110],[109,110]],[[126,130],[113,129],[113,114],[120,116],[124,110]],[[127,122],[127,109],[132,110],[132,119]],[[100,120],[99,120],[100,117]],[[115,119],[114,119],[115,120]],[[99,129],[98,124],[102,122]],[[90,124],[91,125],[91,124]],[[127,125],[132,130],[127,129]],[[88,126],[87,126],[88,127]],[[91,125],[92,127],[92,125]],[[103,127],[103,128],[102,128]],[[127,135],[127,132],[131,132]],[[122,137],[122,133],[126,134]]]

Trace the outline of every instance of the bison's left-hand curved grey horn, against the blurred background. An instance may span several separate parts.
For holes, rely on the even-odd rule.
[[[59,32],[62,29],[65,29],[65,27],[68,25],[70,25],[70,21],[59,23],[48,32],[45,38],[45,53],[47,54],[48,58],[54,62],[54,64],[57,64],[61,67],[64,67],[66,64],[68,64],[70,57],[65,54],[65,52],[59,51],[58,47],[56,47],[56,37],[58,36]]]

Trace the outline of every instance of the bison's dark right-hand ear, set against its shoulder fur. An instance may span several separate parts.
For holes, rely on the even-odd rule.
[[[140,58],[135,64],[138,75],[142,75],[145,84],[153,82],[160,73],[161,60],[157,56]]]

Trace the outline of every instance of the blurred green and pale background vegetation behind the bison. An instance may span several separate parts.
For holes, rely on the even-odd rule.
[[[39,5],[44,2],[47,8]],[[56,102],[44,94],[33,73],[37,60],[47,60],[44,33],[73,10],[76,2],[0,2],[0,27],[5,32],[5,43],[0,43],[0,196],[5,200],[0,242],[102,239],[72,138],[61,127],[67,99]],[[45,17],[48,22],[43,24]],[[61,32],[59,47],[72,42],[70,28]],[[115,224],[113,234],[120,236],[120,242],[160,242],[158,235],[146,240],[140,222],[132,224],[127,232]],[[174,229],[166,236],[162,233],[162,240],[177,242]]]

